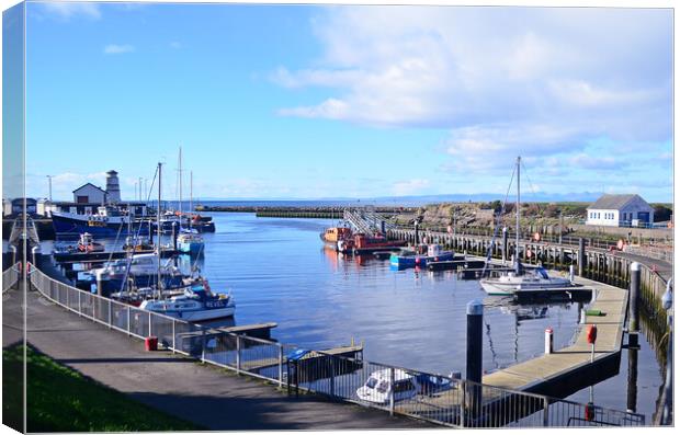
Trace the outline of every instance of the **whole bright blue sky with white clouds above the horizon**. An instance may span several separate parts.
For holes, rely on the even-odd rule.
[[[27,194],[672,199],[670,10],[38,3]],[[189,176],[184,179],[185,192]]]

